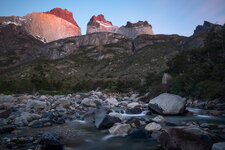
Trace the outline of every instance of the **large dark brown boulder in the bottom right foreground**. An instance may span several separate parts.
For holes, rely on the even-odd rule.
[[[215,135],[196,126],[168,128],[159,136],[159,142],[166,150],[211,150],[218,140]]]

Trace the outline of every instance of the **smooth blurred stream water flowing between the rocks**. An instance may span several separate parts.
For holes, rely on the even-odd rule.
[[[180,124],[181,122],[198,122],[225,124],[225,117],[205,116],[204,110],[187,108],[197,116],[165,116],[167,122],[171,124]],[[140,114],[126,114],[122,112],[123,117],[150,117],[147,111]],[[51,126],[45,128],[25,128],[17,135],[34,135],[47,131],[56,131],[62,135],[61,142],[65,145],[65,150],[159,150],[160,145],[156,140],[149,139],[131,139],[126,136],[109,135],[108,130],[98,130],[92,124],[81,120],[68,121],[63,125]]]

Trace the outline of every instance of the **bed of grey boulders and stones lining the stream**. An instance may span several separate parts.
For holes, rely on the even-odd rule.
[[[93,134],[149,139],[158,149],[224,148],[224,102],[186,100],[168,93],[149,103],[141,98],[138,94],[100,91],[55,96],[0,95],[0,149],[66,149],[67,138],[75,136],[71,129],[74,121],[90,125]],[[218,119],[219,123],[198,120],[202,116]]]

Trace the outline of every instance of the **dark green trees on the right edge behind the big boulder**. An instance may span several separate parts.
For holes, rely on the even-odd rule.
[[[210,31],[205,47],[182,51],[168,62],[171,92],[198,98],[225,98],[225,50],[222,31]]]

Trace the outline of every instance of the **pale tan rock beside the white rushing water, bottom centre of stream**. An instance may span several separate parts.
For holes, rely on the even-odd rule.
[[[127,134],[130,129],[129,124],[116,123],[109,129],[109,133],[113,135],[124,135]]]

